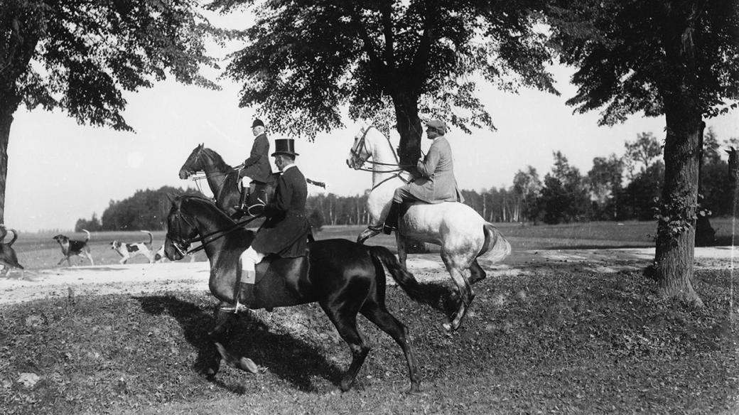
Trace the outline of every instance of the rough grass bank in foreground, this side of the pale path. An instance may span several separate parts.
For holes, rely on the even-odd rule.
[[[415,336],[421,394],[398,346],[361,318],[372,346],[353,391],[336,385],[346,344],[316,305],[253,312],[232,348],[265,368],[196,368],[211,346],[206,293],[67,298],[0,314],[3,414],[717,414],[735,411],[737,330],[729,271],[701,271],[707,306],[661,301],[638,273],[488,278],[462,328],[389,289]],[[33,386],[18,383],[35,374]]]

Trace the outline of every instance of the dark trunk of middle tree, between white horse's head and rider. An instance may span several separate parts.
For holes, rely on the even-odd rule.
[[[392,97],[392,103],[395,106],[398,134],[401,134],[398,157],[402,168],[412,170],[420,158],[420,138],[423,137],[423,126],[418,117],[418,97],[398,94]]]

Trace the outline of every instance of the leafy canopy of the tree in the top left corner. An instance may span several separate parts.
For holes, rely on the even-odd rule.
[[[79,123],[132,130],[123,91],[163,80],[216,87],[200,66],[208,22],[194,0],[3,0],[0,114],[62,109]]]

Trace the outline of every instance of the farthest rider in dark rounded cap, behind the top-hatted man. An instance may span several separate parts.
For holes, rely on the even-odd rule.
[[[236,210],[246,210],[245,202],[249,193],[255,188],[254,182],[269,182],[272,177],[272,168],[270,167],[270,142],[265,133],[265,123],[259,118],[255,118],[251,123],[251,132],[254,134],[254,142],[251,145],[251,153],[249,158],[244,160],[244,167],[239,171],[239,179],[241,179],[241,200]]]

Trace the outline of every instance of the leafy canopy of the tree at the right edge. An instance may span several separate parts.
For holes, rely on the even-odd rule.
[[[604,108],[601,125],[630,114],[664,114],[664,103],[690,95],[707,116],[739,98],[736,1],[552,1],[549,14],[561,60],[577,66],[577,112]],[[687,86],[689,91],[685,91]],[[687,92],[687,94],[686,94]]]

